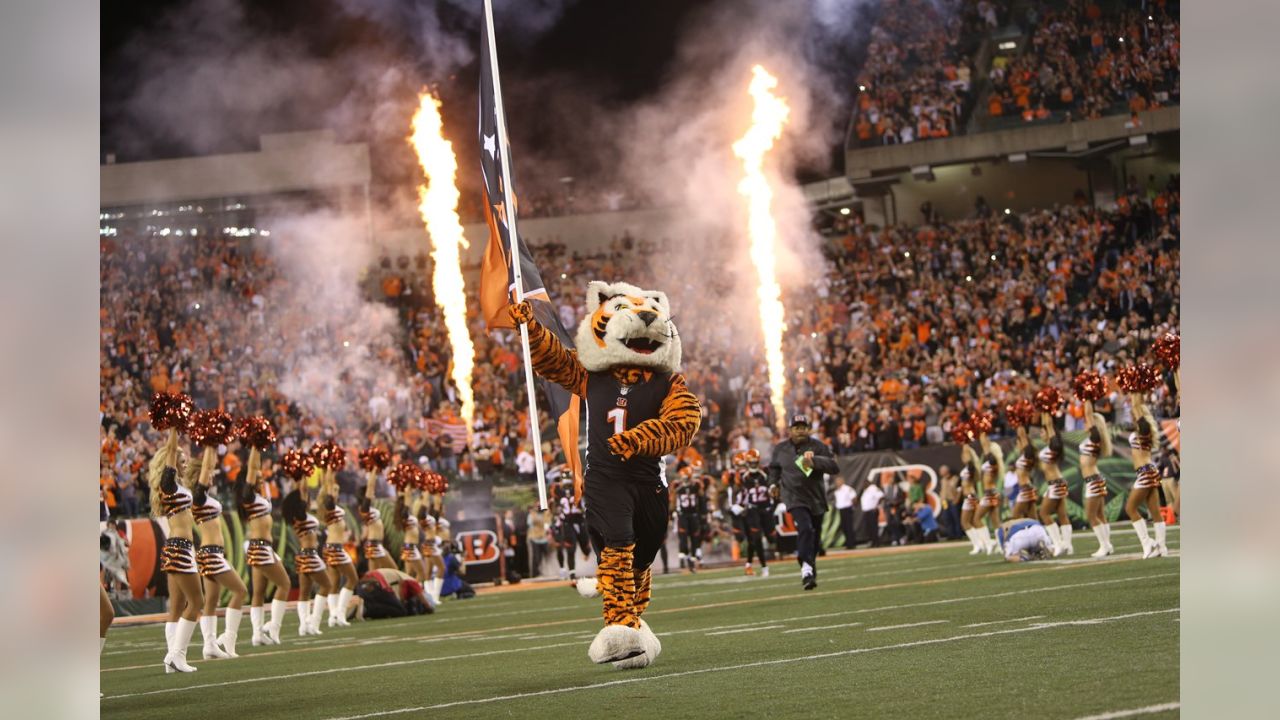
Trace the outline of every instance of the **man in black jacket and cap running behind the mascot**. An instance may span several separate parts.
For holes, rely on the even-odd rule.
[[[831,448],[809,436],[809,418],[791,419],[791,439],[773,446],[769,455],[769,482],[782,488],[781,515],[791,511],[796,524],[796,561],[804,589],[818,587],[818,533],[827,512],[823,478],[840,471]]]

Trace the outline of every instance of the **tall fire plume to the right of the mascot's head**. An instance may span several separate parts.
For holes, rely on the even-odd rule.
[[[773,188],[764,172],[764,158],[782,137],[782,127],[791,109],[773,94],[778,79],[760,65],[751,68],[748,91],[755,102],[751,127],[733,143],[733,155],[742,160],[742,179],[737,191],[746,197],[748,236],[751,261],[760,278],[756,295],[760,300],[760,327],[764,331],[764,359],[769,366],[769,395],[778,430],[786,427],[786,369],[782,363],[782,333],[786,331],[782,309],[782,287],[777,279],[778,224],[773,219]]]

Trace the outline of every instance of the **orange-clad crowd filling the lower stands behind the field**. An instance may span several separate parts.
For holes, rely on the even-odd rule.
[[[388,255],[369,269],[366,299],[389,306],[399,331],[366,348],[390,373],[356,373],[330,388],[338,393],[332,405],[349,410],[338,416],[285,395],[280,380],[300,359],[338,352],[343,328],[296,309],[276,313],[265,299],[284,281],[261,247],[221,236],[101,243],[101,484],[113,512],[146,511],[145,464],[159,439],[146,407],[159,389],[183,389],[201,407],[269,416],[280,452],[333,437],[351,448],[387,442],[397,461],[453,475],[509,474],[522,452],[527,462],[518,341],[472,318],[477,409],[468,445],[425,256]],[[1176,329],[1178,249],[1176,177],[1162,187],[1130,182],[1114,210],[1004,215],[980,205],[969,219],[890,228],[842,219],[824,240],[826,272],[785,296],[790,402],[837,454],[945,442],[957,414],[996,410],[1039,383],[1066,389],[1073,372],[1132,361]],[[663,277],[672,264],[657,256],[672,251],[631,237],[595,252],[534,246],[571,329],[589,278],[668,291],[681,315],[686,375],[707,410],[695,450],[718,469],[727,455],[767,452],[774,439],[760,343],[731,332],[710,306],[730,292],[718,284],[727,279]],[[147,278],[145,290],[138,277]],[[1176,415],[1171,395],[1161,396],[1162,416]],[[1101,409],[1126,420],[1115,416],[1123,404]],[[1068,429],[1082,427],[1080,418],[1073,405]],[[553,438],[547,416],[541,424]],[[557,455],[547,451],[550,461]],[[271,495],[283,497],[289,480],[270,456],[265,471]],[[237,452],[224,452],[216,487],[227,492],[239,473]],[[362,482],[355,468],[339,474],[348,500]]]

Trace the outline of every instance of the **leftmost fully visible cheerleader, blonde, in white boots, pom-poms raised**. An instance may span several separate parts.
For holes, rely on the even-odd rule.
[[[169,585],[169,620],[164,625],[165,673],[195,673],[187,664],[187,646],[200,620],[200,575],[196,570],[195,519],[191,491],[178,483],[178,430],[151,460],[151,512],[163,515],[169,533],[160,553],[160,569]]]

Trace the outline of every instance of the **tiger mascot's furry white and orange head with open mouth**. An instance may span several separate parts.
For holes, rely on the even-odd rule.
[[[593,373],[621,366],[680,369],[680,333],[664,292],[591,282],[575,342],[579,361]]]

